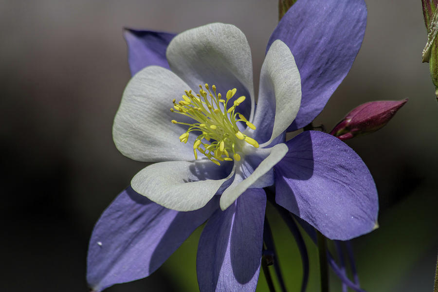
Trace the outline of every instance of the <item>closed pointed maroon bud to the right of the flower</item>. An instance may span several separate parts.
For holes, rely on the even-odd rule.
[[[367,102],[351,110],[330,132],[341,140],[366,135],[382,128],[408,99]]]

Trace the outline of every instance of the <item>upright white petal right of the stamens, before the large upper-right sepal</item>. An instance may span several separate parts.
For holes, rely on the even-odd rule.
[[[259,98],[248,135],[260,147],[268,146],[293,122],[301,103],[301,78],[288,46],[276,40],[266,54],[260,72]]]

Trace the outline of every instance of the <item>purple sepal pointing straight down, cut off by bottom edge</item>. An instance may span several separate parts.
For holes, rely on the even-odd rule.
[[[200,291],[256,291],[265,208],[265,192],[252,188],[208,220],[196,259]]]

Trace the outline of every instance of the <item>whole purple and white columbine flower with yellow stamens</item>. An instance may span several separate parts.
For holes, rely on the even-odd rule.
[[[129,158],[157,163],[135,175],[94,227],[91,287],[151,274],[208,219],[197,256],[200,290],[254,291],[263,187],[273,184],[278,204],[329,238],[371,231],[377,193],[358,155],[322,132],[285,141],[286,130],[313,120],[345,77],[365,22],[362,0],[298,0],[269,41],[257,106],[249,45],[235,26],[214,23],[176,37],[128,30],[135,75],[114,119],[114,142]]]

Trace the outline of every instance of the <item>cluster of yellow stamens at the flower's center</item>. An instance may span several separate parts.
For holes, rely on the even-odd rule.
[[[229,90],[226,100],[222,99],[220,93],[216,93],[216,86],[211,87],[205,84],[199,86],[200,91],[193,94],[192,91],[185,91],[183,100],[178,103],[173,100],[172,112],[180,113],[191,117],[197,123],[188,124],[172,120],[173,124],[187,125],[189,128],[180,136],[180,141],[187,143],[189,133],[201,133],[193,143],[193,153],[198,159],[198,151],[205,155],[215,164],[220,165],[220,161],[239,161],[240,155],[237,153],[244,145],[243,141],[251,146],[258,148],[258,143],[253,138],[243,134],[237,127],[237,122],[245,123],[249,128],[256,127],[240,113],[236,108],[245,101],[245,96],[237,98],[233,105],[228,108],[229,100],[236,94],[236,89]]]

